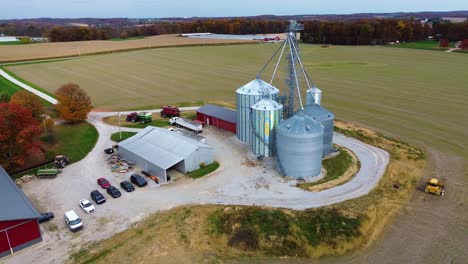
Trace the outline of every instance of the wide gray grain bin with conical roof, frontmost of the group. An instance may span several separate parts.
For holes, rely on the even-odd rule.
[[[276,129],[276,155],[281,174],[297,179],[322,171],[323,126],[302,111]]]

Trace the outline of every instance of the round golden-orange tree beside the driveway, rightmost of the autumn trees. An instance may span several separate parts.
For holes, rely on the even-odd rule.
[[[86,120],[93,109],[91,98],[77,84],[62,85],[56,92],[58,104],[55,106],[61,118],[70,123]]]

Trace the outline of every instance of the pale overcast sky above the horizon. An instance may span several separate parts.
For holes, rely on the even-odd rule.
[[[468,10],[468,0],[0,0],[0,19],[220,17]]]

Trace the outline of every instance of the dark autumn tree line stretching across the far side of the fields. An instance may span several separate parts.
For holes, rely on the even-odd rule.
[[[418,41],[434,36],[458,41],[468,38],[468,22],[433,22],[432,27],[414,19],[373,19],[357,21],[303,21],[301,39],[306,43],[339,45],[386,44],[392,41]],[[0,33],[42,34],[52,42],[107,40],[161,34],[200,33],[216,34],[267,34],[285,31],[288,21],[256,19],[210,19],[197,21],[155,22],[143,25],[76,26],[28,26],[15,32],[15,25],[0,24]],[[15,34],[17,33],[17,34]]]

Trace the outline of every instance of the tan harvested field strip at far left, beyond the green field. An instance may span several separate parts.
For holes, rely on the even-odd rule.
[[[144,39],[126,41],[94,40],[38,43],[30,45],[2,45],[0,46],[0,62],[63,58],[158,47],[219,45],[252,42],[255,41],[234,39],[199,39],[184,38],[179,37],[178,35],[160,35],[147,37]]]

